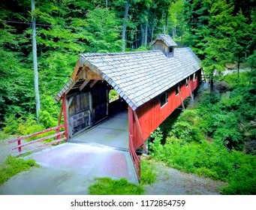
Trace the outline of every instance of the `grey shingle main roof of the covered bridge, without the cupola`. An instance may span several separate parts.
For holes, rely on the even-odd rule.
[[[201,68],[199,58],[191,49],[177,48],[174,53],[173,58],[158,50],[86,53],[80,55],[79,62],[97,68],[101,77],[136,110]]]

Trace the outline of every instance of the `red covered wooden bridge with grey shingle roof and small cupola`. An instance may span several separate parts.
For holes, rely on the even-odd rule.
[[[128,110],[127,140],[138,174],[135,151],[185,98],[193,97],[200,84],[200,60],[190,48],[176,48],[166,34],[156,38],[153,48],[80,55],[71,79],[55,98],[62,101],[65,134],[71,139]],[[111,89],[118,93],[118,100],[109,100]]]

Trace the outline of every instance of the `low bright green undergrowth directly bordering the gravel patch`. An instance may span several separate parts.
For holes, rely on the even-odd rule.
[[[159,146],[152,145],[152,148],[158,149]],[[158,151],[153,151],[153,154],[158,154]],[[223,193],[251,194],[254,188],[250,186],[255,186],[256,158],[241,151],[228,151],[218,142],[185,142],[170,136],[161,146],[161,154],[155,158],[185,172],[228,181],[230,184]],[[241,180],[244,182],[242,188]]]

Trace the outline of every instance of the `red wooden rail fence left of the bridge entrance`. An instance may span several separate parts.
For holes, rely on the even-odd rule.
[[[11,140],[8,141],[9,143],[17,142],[18,145],[13,147],[13,148],[10,148],[10,150],[12,151],[12,150],[18,149],[17,155],[20,155],[20,154],[25,154],[25,153],[27,153],[29,151],[34,151],[34,150],[36,150],[38,148],[44,148],[47,145],[53,145],[53,144],[56,144],[58,142],[65,141],[67,139],[67,137],[65,136],[65,130],[64,131],[59,131],[62,127],[64,127],[64,124],[58,125],[56,127],[48,128],[47,130],[41,130],[41,131],[39,131],[37,133],[32,133],[32,134],[29,134],[29,135],[26,135],[26,136],[19,136],[16,139],[11,139]],[[51,134],[49,136],[41,137],[39,139],[35,139],[33,141],[30,141],[30,142],[23,142],[23,144],[22,144],[22,140],[23,139],[28,139],[28,138],[33,137],[33,136],[38,136],[38,135],[43,134],[43,133],[48,133],[48,132],[50,132],[52,130],[56,130],[56,133]],[[50,139],[50,138],[53,138],[53,137],[56,137],[55,141],[44,143],[43,145],[39,145],[39,146],[37,146],[35,148],[32,148],[29,151],[22,151],[22,148],[27,146],[27,145],[32,145],[35,142],[42,142],[42,141],[44,141],[46,139]]]

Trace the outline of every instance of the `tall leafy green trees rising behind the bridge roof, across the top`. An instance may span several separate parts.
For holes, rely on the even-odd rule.
[[[0,128],[8,127],[10,133],[15,133],[17,118],[23,123],[31,121],[30,115],[35,117],[32,16],[37,30],[41,127],[56,125],[59,104],[53,96],[68,80],[77,56],[120,52],[124,30],[126,50],[149,49],[159,33],[173,35],[203,58],[210,74],[227,62],[245,62],[255,45],[253,1],[45,0],[35,1],[33,13],[30,0],[0,3]],[[255,54],[252,63],[254,58]]]

